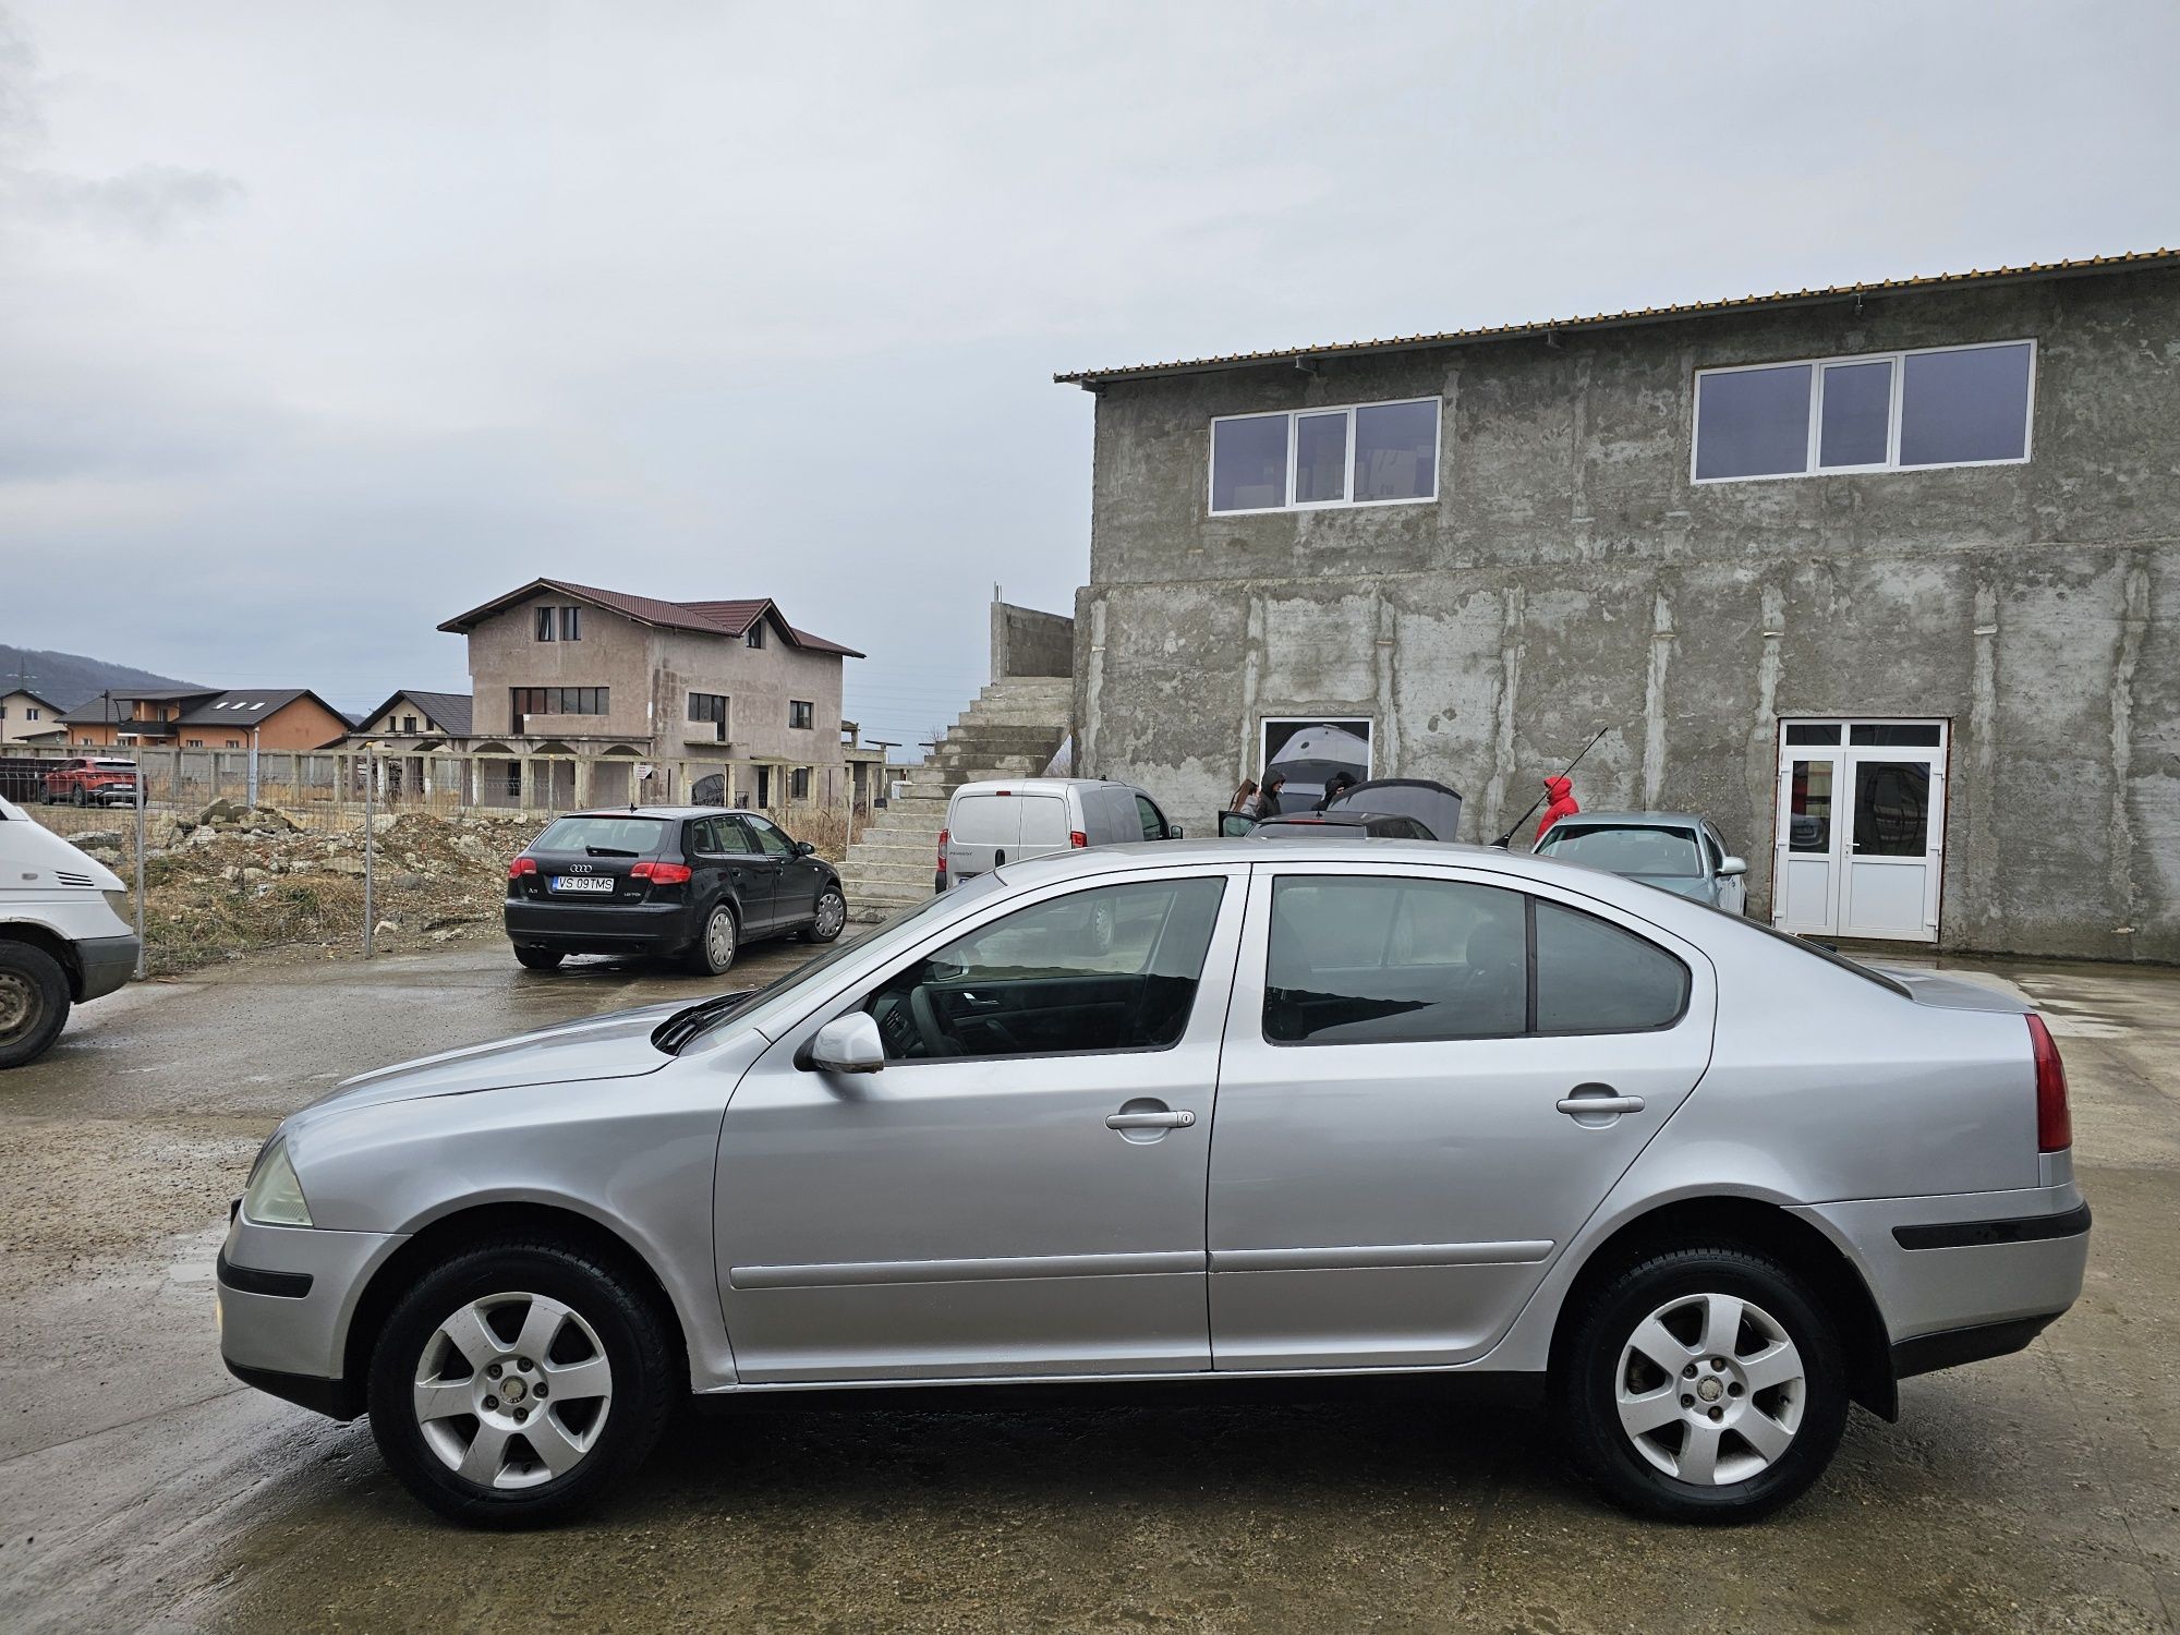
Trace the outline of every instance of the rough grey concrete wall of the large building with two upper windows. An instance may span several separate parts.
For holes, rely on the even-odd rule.
[[[2027,464],[1698,486],[1694,373],[2038,340]],[[2180,959],[2180,272],[1116,382],[1077,597],[1086,776],[1203,822],[1264,715],[1371,715],[1489,837],[1692,807],[1768,913],[1783,715],[1949,717],[1947,946]],[[1208,423],[1439,395],[1439,499],[1210,517]]]

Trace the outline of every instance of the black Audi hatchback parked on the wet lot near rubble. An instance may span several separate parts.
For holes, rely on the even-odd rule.
[[[508,863],[508,942],[530,970],[571,953],[667,955],[717,977],[763,937],[833,942],[839,874],[754,811],[578,811]]]

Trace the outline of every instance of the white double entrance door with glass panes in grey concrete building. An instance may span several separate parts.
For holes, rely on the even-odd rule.
[[[1772,924],[1938,940],[1945,722],[1781,722]]]

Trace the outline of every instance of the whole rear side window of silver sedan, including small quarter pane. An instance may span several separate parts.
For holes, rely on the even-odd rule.
[[[1639,1033],[1681,1020],[1687,992],[1663,948],[1522,892],[1306,874],[1271,887],[1273,1044]]]

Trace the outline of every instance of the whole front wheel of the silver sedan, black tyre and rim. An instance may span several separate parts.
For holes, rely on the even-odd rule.
[[[371,1352],[379,1452],[410,1493],[471,1526],[538,1526],[597,1502],[682,1395],[676,1336],[639,1273],[538,1238],[443,1262]]]

